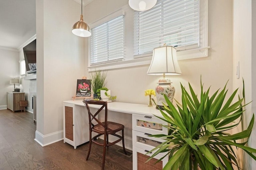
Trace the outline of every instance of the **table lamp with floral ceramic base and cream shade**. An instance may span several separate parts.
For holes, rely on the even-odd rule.
[[[175,88],[171,85],[172,82],[170,79],[165,78],[165,76],[181,74],[176,49],[172,46],[166,46],[166,44],[155,48],[147,74],[163,75],[163,78],[158,81],[158,86],[156,86],[157,105],[162,109],[163,103],[166,104],[163,94],[172,102],[175,93]],[[156,108],[158,109],[158,107]]]

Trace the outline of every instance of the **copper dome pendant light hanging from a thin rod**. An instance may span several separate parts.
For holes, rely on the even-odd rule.
[[[73,27],[72,27],[72,33],[74,35],[77,35],[79,37],[90,37],[92,33],[89,31],[90,28],[87,25],[87,23],[84,22],[83,18],[83,6],[82,6],[82,0],[81,0],[81,7],[82,7],[82,12],[81,12],[81,18],[80,21],[76,22]]]

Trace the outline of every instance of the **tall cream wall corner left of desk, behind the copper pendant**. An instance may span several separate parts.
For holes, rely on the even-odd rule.
[[[84,76],[84,38],[71,32],[80,7],[74,0],[36,1],[36,141],[43,146],[63,139],[62,102],[72,99]]]

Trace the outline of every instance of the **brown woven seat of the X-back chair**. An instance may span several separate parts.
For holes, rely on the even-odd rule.
[[[105,122],[102,122],[102,123],[105,125]],[[112,121],[108,121],[108,128],[114,132],[118,132],[124,129],[124,125],[121,125],[119,123],[115,123]],[[104,133],[104,127],[100,124],[97,124],[94,127],[92,127],[92,130],[96,131],[97,133]],[[107,133],[111,133],[111,132],[107,129]]]

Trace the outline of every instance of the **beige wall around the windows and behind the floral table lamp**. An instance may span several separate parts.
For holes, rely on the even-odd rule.
[[[127,5],[127,2],[94,0],[85,7],[84,20],[88,23],[97,21]],[[209,0],[208,3],[208,45],[211,47],[209,57],[178,61],[182,75],[167,76],[176,87],[175,98],[178,101],[181,100],[180,82],[188,86],[189,81],[200,92],[200,75],[205,87],[212,85],[212,92],[223,87],[228,80],[227,87],[232,91],[232,0]],[[133,53],[125,50],[126,53]],[[87,60],[86,62],[88,64]],[[148,96],[144,96],[144,90],[155,88],[156,82],[161,78],[147,75],[148,66],[108,70],[106,87],[111,90],[111,95],[116,95],[119,102],[147,104]],[[87,71],[86,74],[89,75]]]

